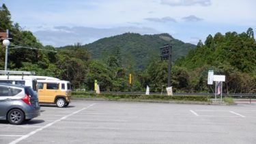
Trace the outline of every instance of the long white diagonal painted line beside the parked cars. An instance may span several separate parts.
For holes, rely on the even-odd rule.
[[[94,104],[95,104],[95,103],[94,103]],[[64,117],[61,117],[60,119],[57,119],[57,120],[53,121],[53,122],[50,123],[50,124],[46,124],[46,126],[42,126],[42,128],[38,128],[38,129],[36,129],[36,130],[33,130],[32,132],[29,132],[29,134],[23,135],[23,136],[21,136],[19,139],[16,139],[16,140],[12,141],[12,142],[9,143],[9,144],[15,144],[15,143],[18,143],[18,142],[20,142],[20,141],[23,141],[23,139],[27,139],[29,136],[32,136],[33,134],[35,134],[35,133],[37,133],[37,132],[40,132],[41,130],[46,129],[46,128],[52,126],[53,124],[56,124],[57,122],[59,122],[59,121],[61,121],[61,120],[63,120],[63,119],[66,119],[66,118],[68,118],[68,117],[70,117],[70,116],[72,116],[72,115],[74,115],[74,114],[76,114],[76,113],[79,113],[79,112],[81,112],[81,111],[83,111],[83,110],[85,110],[85,109],[89,109],[89,107],[94,106],[94,104],[90,104],[89,106],[87,106],[87,107],[85,107],[85,108],[83,108],[83,109],[80,109],[79,111],[75,111],[74,113],[70,113],[69,115],[66,115],[66,116],[64,116]]]

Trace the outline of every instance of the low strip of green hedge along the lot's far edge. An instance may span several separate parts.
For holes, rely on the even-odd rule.
[[[196,101],[209,102],[208,96],[167,96],[167,95],[145,95],[145,94],[109,94],[109,93],[87,93],[72,92],[72,98],[106,98],[110,100],[130,99],[130,100],[167,100],[167,101]]]

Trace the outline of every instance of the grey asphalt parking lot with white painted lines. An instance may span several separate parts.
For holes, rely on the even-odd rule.
[[[255,143],[256,104],[72,101],[23,125],[0,121],[0,143]]]

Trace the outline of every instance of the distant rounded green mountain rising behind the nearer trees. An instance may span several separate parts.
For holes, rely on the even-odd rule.
[[[102,38],[82,47],[87,48],[92,59],[106,60],[106,57],[119,53],[122,66],[127,67],[128,63],[132,63],[135,68],[142,70],[149,61],[160,59],[160,47],[164,44],[173,46],[172,61],[175,61],[177,57],[185,56],[190,49],[195,48],[195,45],[176,40],[167,33],[158,35],[124,33],[110,38]],[[68,46],[64,48],[68,48]]]

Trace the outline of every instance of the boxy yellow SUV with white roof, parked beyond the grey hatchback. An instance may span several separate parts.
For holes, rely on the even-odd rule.
[[[38,100],[40,103],[65,107],[70,104],[70,98],[71,87],[69,81],[38,79]]]

